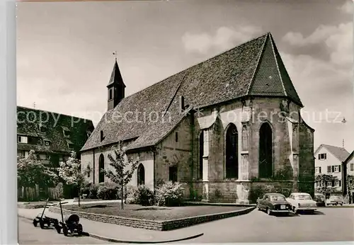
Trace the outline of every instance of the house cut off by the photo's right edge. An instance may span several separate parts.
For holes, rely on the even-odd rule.
[[[343,161],[343,195],[348,203],[354,203],[354,151]]]

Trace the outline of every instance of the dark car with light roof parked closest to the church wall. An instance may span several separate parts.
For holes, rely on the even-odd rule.
[[[285,195],[279,193],[265,193],[263,198],[257,200],[258,210],[265,210],[268,215],[283,213],[288,215],[292,210],[290,203],[287,203]]]

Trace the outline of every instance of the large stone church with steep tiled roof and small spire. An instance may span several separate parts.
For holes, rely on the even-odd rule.
[[[314,194],[314,130],[270,33],[127,97],[125,86],[115,60],[108,111],[81,149],[92,183],[109,181],[101,169],[122,142],[140,159],[133,186],[178,181],[185,198],[227,203],[261,188]]]

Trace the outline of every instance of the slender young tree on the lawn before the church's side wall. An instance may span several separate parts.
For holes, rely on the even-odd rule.
[[[121,208],[124,209],[123,200],[125,186],[127,186],[127,183],[129,183],[132,179],[132,175],[139,164],[139,159],[133,161],[133,159],[130,158],[126,161],[126,149],[122,147],[121,143],[118,144],[118,147],[113,147],[112,150],[115,158],[113,158],[112,154],[108,154],[108,159],[110,160],[110,166],[113,167],[115,172],[105,169],[103,169],[102,172],[105,176],[107,176],[107,178],[120,186]]]

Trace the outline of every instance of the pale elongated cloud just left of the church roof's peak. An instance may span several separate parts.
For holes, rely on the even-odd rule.
[[[187,52],[207,54],[210,50],[223,51],[232,48],[242,42],[246,42],[262,33],[256,26],[244,26],[229,28],[222,26],[217,29],[215,35],[210,33],[185,33],[182,42]]]

